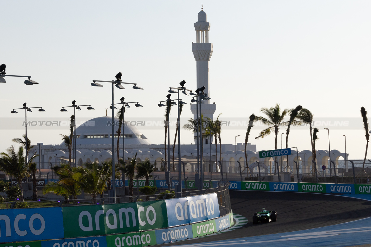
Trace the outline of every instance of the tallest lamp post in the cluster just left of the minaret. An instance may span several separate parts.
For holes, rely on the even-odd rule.
[[[179,99],[179,92],[182,91],[183,94],[188,95],[186,91],[189,92],[190,95],[196,95],[195,93],[192,93],[192,90],[186,89],[184,87],[185,80],[182,80],[180,83],[180,88],[170,88],[169,93],[178,93],[178,119],[177,119],[177,126],[178,126],[178,186],[177,186],[177,192],[182,191],[182,171],[181,171],[181,153],[180,153],[180,104],[184,105],[185,102],[181,101]],[[173,91],[172,89],[176,89],[177,92]],[[173,154],[174,156],[174,154]],[[180,195],[181,197],[181,195]]]

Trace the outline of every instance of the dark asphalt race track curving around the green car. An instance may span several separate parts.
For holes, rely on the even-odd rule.
[[[249,222],[242,228],[202,238],[166,244],[183,245],[231,240],[266,234],[286,233],[324,227],[371,216],[371,201],[330,194],[230,190],[233,213]],[[277,211],[277,222],[252,223],[252,215],[262,208]]]

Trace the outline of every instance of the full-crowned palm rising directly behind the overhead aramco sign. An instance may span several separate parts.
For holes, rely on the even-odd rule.
[[[277,149],[277,135],[279,126],[285,126],[288,124],[288,122],[284,122],[283,118],[288,113],[288,109],[284,109],[281,112],[281,108],[279,104],[277,103],[275,107],[271,108],[262,108],[260,112],[263,112],[267,118],[262,116],[255,117],[255,121],[259,121],[265,125],[268,125],[269,127],[266,129],[263,129],[259,136],[255,137],[257,138],[264,138],[267,135],[270,135],[270,133],[273,131],[275,133],[275,149]],[[277,160],[277,157],[275,157],[275,160]],[[276,175],[276,166],[275,166],[275,175]]]

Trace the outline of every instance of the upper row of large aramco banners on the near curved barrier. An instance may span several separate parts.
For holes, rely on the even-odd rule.
[[[2,209],[0,210],[0,243],[149,231],[219,217],[220,211],[216,193],[168,200],[107,205]],[[189,231],[188,233],[188,230],[186,230],[187,233],[184,233],[187,236],[192,232]],[[155,231],[140,236],[143,238],[141,243],[151,244],[150,239],[155,239],[154,236]],[[119,243],[116,240],[117,237],[115,236],[112,241],[110,240],[107,246],[113,246],[116,242]],[[121,237],[121,244],[124,243],[124,240],[122,240],[124,237],[125,241],[133,240],[133,236],[130,234],[125,235]],[[129,240],[130,238],[132,240]],[[137,235],[135,235],[136,238]],[[82,243],[79,242],[80,240],[76,241]],[[86,241],[90,241],[91,247],[104,247],[99,245],[98,238],[87,239]],[[63,241],[59,242],[56,241],[51,247],[58,247],[58,244],[65,243]],[[98,244],[98,246],[93,243]],[[65,246],[62,244],[61,247]],[[70,247],[73,247],[73,245]],[[89,247],[88,242],[85,243],[84,247]]]

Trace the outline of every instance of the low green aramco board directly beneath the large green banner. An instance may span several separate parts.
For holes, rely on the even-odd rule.
[[[137,247],[155,245],[157,243],[155,231],[106,236],[106,241],[107,247]]]

